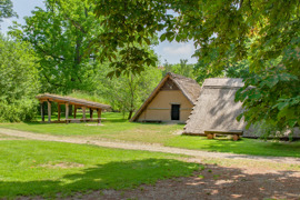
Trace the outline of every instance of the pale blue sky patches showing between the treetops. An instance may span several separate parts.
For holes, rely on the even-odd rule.
[[[18,13],[19,18],[3,19],[3,22],[1,22],[1,32],[7,32],[12,21],[24,23],[23,17],[31,16],[31,11],[34,10],[36,7],[43,8],[42,0],[12,0],[12,3],[13,10]],[[191,58],[194,52],[192,42],[178,43],[164,41],[153,49],[159,56],[161,63],[164,63],[164,60],[167,60],[168,63],[179,63],[180,59],[188,59],[189,63],[197,62],[197,59]]]

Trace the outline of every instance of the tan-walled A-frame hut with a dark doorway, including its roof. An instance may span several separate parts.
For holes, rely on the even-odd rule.
[[[130,121],[184,123],[200,89],[197,81],[169,72]]]

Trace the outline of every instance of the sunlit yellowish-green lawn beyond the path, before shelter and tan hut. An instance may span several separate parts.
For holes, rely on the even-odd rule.
[[[56,119],[57,116],[52,118]],[[90,123],[0,123],[2,128],[23,130],[44,134],[94,137],[112,140],[161,143],[173,137],[174,131],[182,130],[183,124],[131,123],[122,119],[121,113],[104,112],[103,126]],[[80,118],[80,116],[79,116]]]

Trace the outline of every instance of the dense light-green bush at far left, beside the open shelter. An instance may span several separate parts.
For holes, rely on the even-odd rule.
[[[0,36],[0,121],[32,119],[40,86],[34,52]]]

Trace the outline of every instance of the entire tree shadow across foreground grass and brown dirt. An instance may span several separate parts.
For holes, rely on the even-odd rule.
[[[188,176],[196,163],[168,159],[147,159],[110,162],[88,168],[79,173],[67,174],[60,181],[0,182],[0,197],[44,196],[73,199],[99,198],[84,194],[87,190],[129,189],[142,186],[143,190],[110,191],[103,199],[298,199],[300,179],[297,171],[247,173],[240,168],[207,164],[191,178],[160,181],[176,176]],[[180,171],[180,173],[179,173]],[[57,196],[58,194],[58,196]],[[109,196],[112,197],[109,197]],[[77,198],[78,196],[78,198]],[[108,196],[108,197],[107,197]]]

